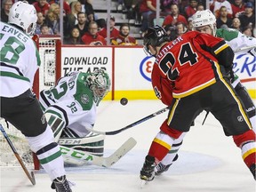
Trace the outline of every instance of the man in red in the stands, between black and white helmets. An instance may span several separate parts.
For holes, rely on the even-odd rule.
[[[170,27],[174,27],[176,23],[182,22],[185,25],[188,25],[187,19],[180,14],[178,4],[171,5],[171,14],[167,15],[164,19],[163,27],[168,30]]]

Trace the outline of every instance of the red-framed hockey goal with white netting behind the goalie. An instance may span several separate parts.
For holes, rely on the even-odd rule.
[[[41,59],[41,66],[36,72],[33,86],[33,92],[38,97],[40,91],[52,87],[61,76],[61,39],[60,36],[33,36],[33,40],[38,47]],[[4,119],[0,119],[0,124],[12,140],[23,163],[39,170],[39,161],[29,149],[25,136],[12,124],[6,124]],[[20,166],[3,134],[0,134],[0,151],[0,166]]]

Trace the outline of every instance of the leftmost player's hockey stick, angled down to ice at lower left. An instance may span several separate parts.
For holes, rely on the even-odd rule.
[[[35,180],[35,175],[34,172],[31,172],[31,174],[29,174],[27,167],[25,166],[25,164],[23,163],[22,159],[20,158],[20,155],[18,154],[17,150],[14,148],[14,146],[12,145],[12,141],[9,139],[7,133],[4,131],[4,127],[2,126],[2,124],[0,124],[0,130],[4,135],[5,140],[7,140],[9,146],[12,148],[12,152],[14,153],[14,155],[16,156],[16,158],[18,159],[22,169],[24,170],[24,172],[27,174],[28,179],[31,181],[31,183],[33,185],[36,185],[36,180]]]

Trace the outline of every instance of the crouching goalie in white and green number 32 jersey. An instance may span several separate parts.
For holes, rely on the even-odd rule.
[[[60,78],[55,87],[40,92],[44,115],[60,145],[103,156],[104,135],[87,128],[92,129],[95,124],[96,108],[109,88],[108,74],[97,69],[92,73],[71,72]],[[74,138],[79,142],[73,143]]]

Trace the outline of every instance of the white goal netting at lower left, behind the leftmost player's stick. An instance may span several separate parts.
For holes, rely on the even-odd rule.
[[[4,119],[0,120],[0,124],[4,127],[4,131],[7,133],[9,139],[12,141],[12,145],[20,155],[22,161],[27,166],[33,166],[33,156],[32,151],[29,149],[28,141],[25,139],[25,136],[12,124],[7,124]],[[0,166],[20,166],[16,156],[12,152],[12,148],[9,146],[8,142],[5,140],[3,133],[0,133]]]

